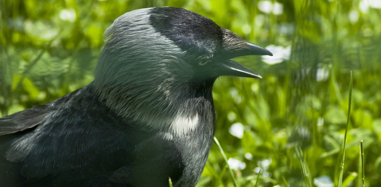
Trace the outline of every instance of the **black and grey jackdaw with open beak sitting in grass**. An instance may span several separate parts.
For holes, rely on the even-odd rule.
[[[261,78],[230,59],[272,55],[174,7],[125,13],[105,36],[93,82],[0,118],[0,186],[192,187],[214,135],[213,82]]]

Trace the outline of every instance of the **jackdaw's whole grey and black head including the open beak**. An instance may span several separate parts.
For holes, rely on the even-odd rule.
[[[261,78],[231,59],[272,55],[207,17],[174,7],[125,13],[105,36],[94,83],[101,98],[127,117],[132,106],[132,113],[140,116],[162,105],[171,108],[179,100],[211,95],[219,76]]]

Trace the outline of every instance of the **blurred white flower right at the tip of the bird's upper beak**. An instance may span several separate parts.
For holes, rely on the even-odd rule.
[[[291,46],[283,48],[282,46],[269,45],[266,49],[272,52],[273,56],[263,55],[262,61],[269,65],[281,63],[284,60],[290,59]]]

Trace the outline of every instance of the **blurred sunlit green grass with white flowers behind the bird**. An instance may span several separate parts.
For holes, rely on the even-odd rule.
[[[274,56],[235,60],[263,79],[219,78],[216,138],[198,187],[336,186],[353,73],[343,186],[381,184],[381,0],[1,0],[0,111],[15,113],[93,80],[103,31],[123,13],[176,6]],[[259,171],[261,173],[258,175]]]

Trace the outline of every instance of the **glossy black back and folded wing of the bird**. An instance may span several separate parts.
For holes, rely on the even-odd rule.
[[[176,142],[122,120],[91,84],[46,106],[0,118],[0,185],[166,186],[168,176],[181,178]]]

